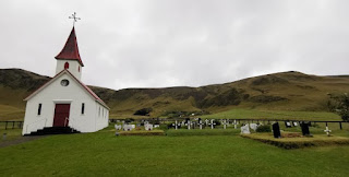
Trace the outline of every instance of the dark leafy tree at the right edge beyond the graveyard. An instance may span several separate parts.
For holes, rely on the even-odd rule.
[[[329,110],[338,114],[342,120],[348,121],[349,120],[349,96],[347,93],[341,95],[329,95],[329,101],[327,103],[327,106]]]

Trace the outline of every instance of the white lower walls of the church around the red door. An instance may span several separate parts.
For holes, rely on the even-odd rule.
[[[70,82],[68,86],[61,85],[63,79]],[[52,127],[57,103],[71,104],[69,126],[81,132],[94,132],[106,127],[101,126],[99,118],[95,118],[98,103],[70,75],[63,74],[27,101],[23,134],[37,130],[44,122],[45,127]],[[82,103],[85,103],[84,115],[81,114]],[[37,115],[38,104],[43,105],[40,116]],[[95,119],[98,119],[97,122]]]

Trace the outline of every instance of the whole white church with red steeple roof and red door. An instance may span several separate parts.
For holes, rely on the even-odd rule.
[[[24,101],[22,134],[95,132],[108,126],[109,107],[81,81],[84,63],[74,27],[57,59],[56,75]]]

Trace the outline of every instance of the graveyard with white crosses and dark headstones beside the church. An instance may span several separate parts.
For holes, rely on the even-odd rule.
[[[349,138],[340,132],[342,123],[338,121],[300,121],[300,120],[249,120],[249,119],[201,119],[182,118],[176,120],[156,119],[140,120],[136,125],[128,125],[124,120],[112,120],[122,125],[115,125],[118,135],[238,135],[291,150],[311,146],[348,145]],[[157,122],[153,126],[151,122]],[[254,122],[253,122],[254,121]],[[160,125],[159,122],[163,122]],[[167,126],[165,126],[167,125]],[[337,128],[336,135],[332,134],[328,125]],[[144,126],[144,128],[142,128]],[[324,128],[325,126],[325,128]],[[123,127],[123,128],[121,128]],[[136,127],[136,128],[135,128]],[[321,131],[321,129],[324,129]],[[310,131],[311,130],[311,131]],[[338,134],[338,135],[337,135]]]

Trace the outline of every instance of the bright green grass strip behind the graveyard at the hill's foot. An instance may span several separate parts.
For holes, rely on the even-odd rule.
[[[291,119],[291,120],[341,120],[333,113],[326,111],[282,111],[282,110],[258,110],[258,109],[231,109],[213,115],[205,115],[202,118],[216,119]]]

